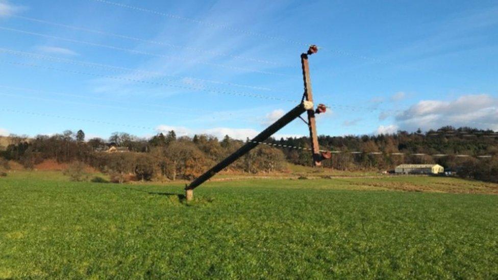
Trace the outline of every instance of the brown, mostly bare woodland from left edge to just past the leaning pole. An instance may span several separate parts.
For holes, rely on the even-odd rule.
[[[0,152],[4,161],[16,161],[28,169],[49,159],[59,163],[85,163],[109,174],[111,180],[118,183],[131,178],[140,181],[192,180],[244,144],[228,136],[221,141],[209,135],[177,137],[174,131],[166,135],[160,133],[151,139],[113,133],[108,141],[101,138],[85,141],[85,134],[80,130],[38,135],[32,139],[11,136],[10,141],[12,144]],[[106,152],[109,146],[126,148],[126,152]],[[284,167],[282,150],[260,146],[231,165],[228,171],[273,172]],[[82,167],[75,164],[71,168],[74,169],[72,173],[80,173]]]

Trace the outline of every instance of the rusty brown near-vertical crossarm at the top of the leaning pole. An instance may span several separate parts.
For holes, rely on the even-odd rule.
[[[308,56],[318,52],[315,45],[310,46],[307,53],[301,55],[301,65],[303,68],[304,96],[303,99],[313,102],[313,90],[311,89],[310,66]],[[315,111],[308,110],[308,128],[310,130],[311,150],[313,152],[313,166],[320,166],[322,156],[318,145],[318,134],[316,132]]]

